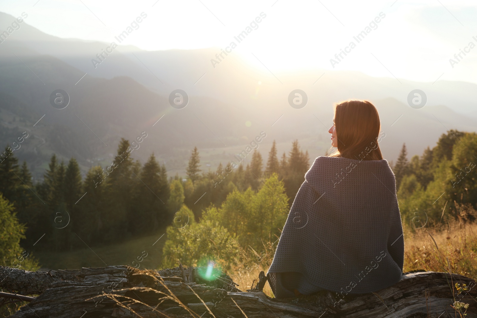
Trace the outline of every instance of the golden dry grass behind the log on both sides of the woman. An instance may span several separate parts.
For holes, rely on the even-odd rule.
[[[267,273],[276,246],[276,242],[268,242],[259,253],[251,248],[242,250],[239,262],[242,265],[232,267],[228,273],[240,290],[252,288],[260,271]],[[404,272],[415,269],[449,272],[449,267],[454,274],[477,280],[477,223],[451,220],[440,227],[415,231],[404,227]],[[265,284],[263,292],[273,297],[269,284]]]

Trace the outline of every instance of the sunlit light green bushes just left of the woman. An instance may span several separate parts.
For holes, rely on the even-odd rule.
[[[263,266],[259,264],[263,260],[270,261],[274,250],[270,241],[276,243],[288,210],[283,181],[276,173],[264,181],[258,192],[251,187],[245,191],[234,189],[220,207],[209,205],[197,223],[183,223],[186,214],[193,215],[183,205],[173,225],[167,228],[163,267],[174,267],[180,262],[207,265],[213,261],[223,270],[250,269],[241,271],[249,275],[252,269]]]

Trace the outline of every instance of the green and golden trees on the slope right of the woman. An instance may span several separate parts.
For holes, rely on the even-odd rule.
[[[414,156],[407,162],[400,156],[398,163],[394,173],[396,184],[401,174],[399,208],[403,223],[411,230],[458,219],[459,204],[477,206],[476,133],[449,131],[421,157]]]

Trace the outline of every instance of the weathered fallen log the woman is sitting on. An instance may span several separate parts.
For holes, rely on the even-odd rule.
[[[451,307],[455,301],[469,304],[466,317],[477,318],[476,282],[439,272],[407,273],[376,293],[338,297],[322,291],[289,299],[267,297],[255,291],[258,287],[241,292],[230,277],[218,270],[207,273],[207,267],[156,271],[108,266],[48,272],[0,267],[0,277],[4,290],[38,295],[13,318],[460,317]],[[263,281],[261,277],[258,285]]]

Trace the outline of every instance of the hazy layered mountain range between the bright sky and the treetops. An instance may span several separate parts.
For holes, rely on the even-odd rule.
[[[0,31],[14,19],[0,13]],[[210,59],[219,51],[214,48],[119,46],[94,68],[91,60],[107,46],[45,34],[28,25],[28,18],[0,44],[1,146],[19,131],[31,132],[18,156],[33,165],[37,178],[53,152],[65,160],[76,157],[84,172],[93,164],[110,164],[120,138],[133,139],[143,131],[148,137],[133,156],[144,162],[154,152],[169,175],[184,174],[196,145],[203,169],[215,169],[233,160],[260,131],[267,133],[259,148],[264,160],[274,139],[279,154],[299,139],[313,159],[329,149],[333,103],[349,98],[370,100],[378,108],[386,133],[381,147],[389,161],[395,161],[404,142],[410,155],[422,154],[447,129],[477,130],[477,87],[472,83],[419,83],[321,70],[274,73],[277,79],[233,53],[213,68]],[[177,88],[190,97],[184,109],[168,103]],[[297,88],[309,98],[302,109],[287,102]],[[406,102],[416,88],[428,98],[418,110]],[[56,89],[71,97],[63,110],[50,105]]]

